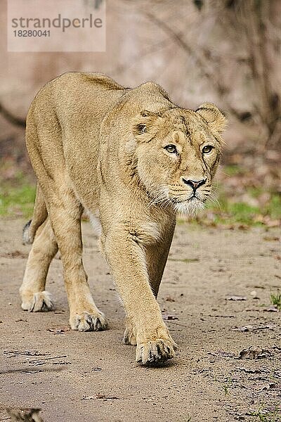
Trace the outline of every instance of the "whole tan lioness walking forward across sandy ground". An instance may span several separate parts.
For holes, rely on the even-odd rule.
[[[27,115],[27,151],[38,179],[22,309],[53,307],[45,290],[60,250],[73,330],[99,331],[105,316],[82,262],[81,213],[100,219],[100,248],[126,312],[124,343],[136,362],[175,356],[156,297],[176,212],[204,207],[221,157],[226,118],[211,103],[176,106],[153,82],[124,88],[110,77],[70,72],[48,82]]]

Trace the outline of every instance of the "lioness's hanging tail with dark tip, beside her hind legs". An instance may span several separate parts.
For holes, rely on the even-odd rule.
[[[24,245],[31,245],[34,241],[37,229],[44,223],[48,217],[48,212],[41,188],[37,184],[36,198],[33,209],[32,219],[25,224],[22,229],[22,243]]]

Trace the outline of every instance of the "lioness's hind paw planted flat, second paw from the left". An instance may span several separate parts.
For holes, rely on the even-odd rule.
[[[78,331],[103,331],[107,328],[107,321],[103,312],[82,312],[70,316],[70,326]]]

